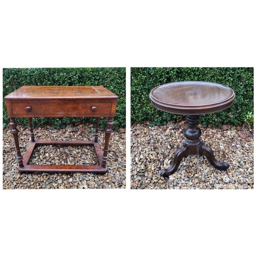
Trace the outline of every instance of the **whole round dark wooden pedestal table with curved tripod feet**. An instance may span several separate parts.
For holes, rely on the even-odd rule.
[[[199,117],[227,109],[234,101],[234,91],[223,84],[202,81],[184,81],[162,84],[150,93],[152,104],[159,110],[186,115],[183,145],[174,154],[169,168],[160,170],[160,175],[168,177],[179,167],[183,157],[205,155],[208,161],[220,170],[229,164],[218,162],[209,146],[200,139]]]

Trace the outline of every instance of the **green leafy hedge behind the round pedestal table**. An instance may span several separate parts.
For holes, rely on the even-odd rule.
[[[157,110],[148,97],[160,84],[176,81],[208,81],[225,84],[236,93],[227,110],[201,116],[203,125],[253,123],[253,68],[132,68],[131,122],[165,124],[181,116]]]

